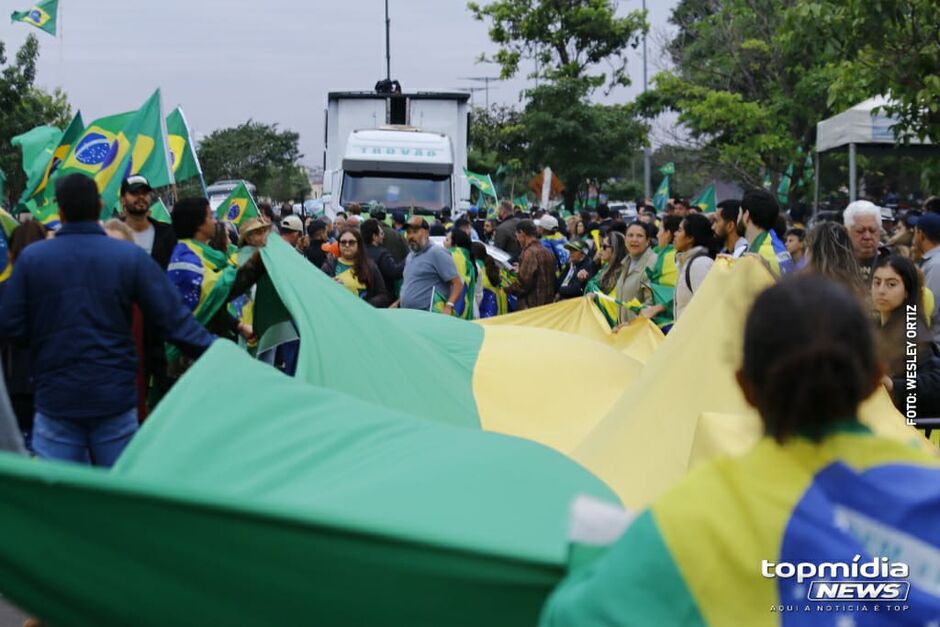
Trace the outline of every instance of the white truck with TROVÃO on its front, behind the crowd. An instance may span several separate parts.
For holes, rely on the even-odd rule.
[[[470,206],[470,96],[461,92],[331,92],[326,108],[323,206],[454,215]]]

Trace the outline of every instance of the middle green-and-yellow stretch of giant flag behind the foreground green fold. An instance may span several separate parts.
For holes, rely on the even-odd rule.
[[[641,368],[616,348],[561,331],[376,310],[279,238],[270,238],[261,252],[300,334],[297,378],[419,418],[518,435],[564,452],[590,432]],[[280,322],[268,317],[264,292],[259,285],[259,335]],[[591,394],[552,394],[550,402],[533,405],[547,364],[568,373],[572,389]]]

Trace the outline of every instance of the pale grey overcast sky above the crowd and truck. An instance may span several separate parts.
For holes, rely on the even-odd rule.
[[[10,0],[27,9],[32,0]],[[650,0],[662,33],[677,0]],[[369,90],[385,76],[383,0],[61,0],[59,37],[0,20],[7,56],[34,32],[40,41],[37,84],[62,87],[91,120],[136,109],[157,87],[164,108],[182,105],[195,134],[252,118],[300,133],[303,162],[322,162],[323,109],[334,90]],[[22,5],[22,6],[19,6]],[[495,47],[464,0],[390,0],[392,78],[405,90],[479,86],[462,77],[496,76],[478,64]],[[639,9],[622,0],[619,11]],[[650,77],[662,66],[650,39]],[[631,51],[633,85],[642,89],[642,52]],[[522,68],[523,71],[531,67]],[[490,101],[518,103],[527,84],[490,86]],[[477,104],[483,92],[474,95]]]

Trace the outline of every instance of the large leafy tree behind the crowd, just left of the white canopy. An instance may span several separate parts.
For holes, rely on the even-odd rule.
[[[799,9],[799,0],[682,0],[670,18],[675,69],[656,76],[643,108],[676,111],[704,160],[754,186],[769,172],[776,187],[834,113],[834,50],[793,28]]]

